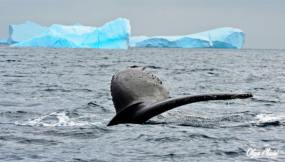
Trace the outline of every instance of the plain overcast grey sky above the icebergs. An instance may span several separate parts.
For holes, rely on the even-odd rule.
[[[32,21],[101,27],[130,20],[131,36],[188,35],[215,28],[239,28],[243,48],[285,49],[285,1],[1,1],[0,39],[10,24]]]

